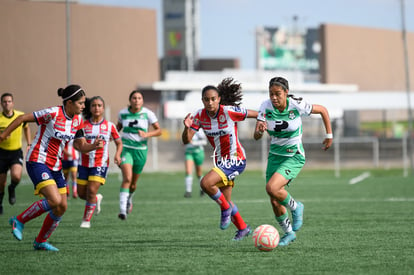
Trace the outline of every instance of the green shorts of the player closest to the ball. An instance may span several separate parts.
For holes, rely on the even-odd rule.
[[[302,154],[295,154],[292,157],[269,154],[267,158],[266,182],[274,173],[279,173],[287,180],[296,178],[305,165],[305,157]]]

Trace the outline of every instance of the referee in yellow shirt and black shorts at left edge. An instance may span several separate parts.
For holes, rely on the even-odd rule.
[[[1,95],[0,133],[19,115],[24,114],[14,109],[13,95],[4,93]],[[0,142],[0,215],[3,214],[4,189],[7,184],[7,171],[10,169],[11,182],[8,186],[9,203],[16,203],[16,186],[22,178],[23,151],[22,151],[22,130],[26,138],[27,146],[30,146],[31,134],[27,123],[20,125],[16,131]]]

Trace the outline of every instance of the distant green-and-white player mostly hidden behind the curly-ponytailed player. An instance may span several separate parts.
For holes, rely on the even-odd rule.
[[[194,134],[190,143],[185,145],[185,198],[191,198],[193,189],[193,166],[200,183],[203,177],[202,164],[204,162],[204,146],[207,144],[207,138],[204,131],[198,131]],[[204,191],[200,190],[200,196],[204,195]]]

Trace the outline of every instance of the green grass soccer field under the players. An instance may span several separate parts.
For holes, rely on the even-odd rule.
[[[101,187],[102,213],[92,228],[79,228],[84,201],[69,208],[50,242],[59,252],[34,251],[44,215],[25,225],[23,240],[8,219],[36,200],[27,182],[17,203],[0,216],[2,274],[414,274],[414,180],[401,170],[304,170],[289,191],[305,204],[297,240],[272,252],[258,251],[251,237],[231,242],[235,227],[219,229],[219,208],[198,193],[186,199],[183,173],[144,173],[126,221],[118,219],[118,175]],[[253,228],[276,225],[261,172],[246,171],[233,201]],[[195,185],[194,189],[198,190]]]

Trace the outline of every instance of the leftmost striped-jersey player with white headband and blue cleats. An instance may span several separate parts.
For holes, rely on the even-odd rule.
[[[65,144],[74,139],[75,148],[84,153],[103,146],[100,138],[92,144],[86,142],[83,121],[79,116],[85,107],[83,89],[78,85],[69,85],[65,89],[59,88],[58,95],[63,99],[63,106],[20,115],[0,134],[1,142],[22,123],[36,122],[39,125],[27,153],[26,169],[33,181],[35,195],[41,194],[44,198],[9,220],[14,237],[21,241],[24,224],[48,212],[33,242],[35,250],[58,251],[47,240],[67,209],[66,181],[61,163]]]

